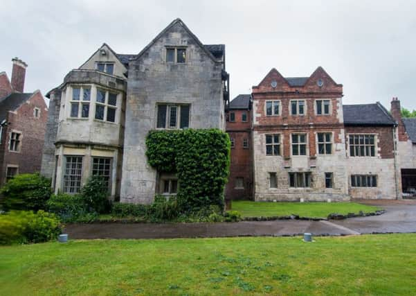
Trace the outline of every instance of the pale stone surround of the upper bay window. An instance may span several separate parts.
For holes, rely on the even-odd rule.
[[[89,102],[89,116],[88,118],[82,118],[82,117],[71,117],[71,101],[72,101],[72,89],[73,87],[85,87],[85,88],[90,88],[90,101],[85,101],[85,102]],[[114,122],[111,121],[103,121],[100,119],[95,119],[96,116],[96,100],[97,100],[97,89],[102,89],[105,90],[106,92],[106,98],[107,98],[107,94],[109,92],[112,92],[114,94],[117,94],[117,105],[116,106],[111,106],[111,107],[115,107],[116,108],[116,119]],[[107,123],[107,124],[119,124],[120,123],[120,110],[121,110],[121,96],[122,94],[114,89],[110,89],[109,87],[103,87],[101,85],[95,85],[95,84],[91,84],[91,83],[87,83],[87,84],[71,84],[68,85],[66,87],[66,89],[64,90],[64,92],[62,92],[62,96],[64,96],[64,100],[62,100],[62,102],[64,102],[64,105],[62,106],[64,113],[62,114],[62,116],[64,117],[64,120],[76,120],[76,121],[98,121],[101,123]],[[80,101],[82,102],[82,101]],[[65,105],[68,105],[68,108],[65,108]],[[62,120],[60,118],[60,120]]]

